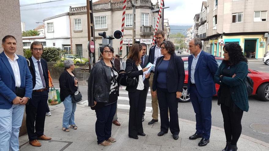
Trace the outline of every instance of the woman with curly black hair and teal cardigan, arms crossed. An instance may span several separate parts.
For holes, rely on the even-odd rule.
[[[220,105],[223,115],[226,136],[226,146],[223,151],[236,151],[237,141],[242,131],[243,111],[249,110],[245,85],[248,75],[248,60],[237,43],[226,44],[223,51],[223,62],[214,76],[214,81],[220,85],[218,105]]]

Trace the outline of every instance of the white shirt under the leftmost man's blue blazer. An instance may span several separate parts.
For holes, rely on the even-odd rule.
[[[5,53],[5,55],[6,55],[6,53]],[[17,59],[19,59],[19,57],[15,53],[14,53],[14,60],[11,60],[7,55],[6,55],[6,57],[9,60],[10,66],[13,70],[13,74],[15,77],[15,86],[20,87],[20,68],[19,68],[19,64],[17,62]]]

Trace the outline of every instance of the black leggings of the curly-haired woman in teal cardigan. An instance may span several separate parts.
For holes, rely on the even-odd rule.
[[[236,145],[242,132],[241,120],[243,111],[232,112],[228,106],[223,104],[220,104],[220,108],[223,116],[226,141]]]

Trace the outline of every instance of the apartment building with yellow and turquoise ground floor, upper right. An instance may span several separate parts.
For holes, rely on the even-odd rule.
[[[268,10],[268,0],[208,0],[206,36],[210,52],[222,56],[222,41],[237,42],[246,57],[262,58],[268,45]]]

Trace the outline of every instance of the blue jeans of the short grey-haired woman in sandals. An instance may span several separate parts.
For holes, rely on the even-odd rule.
[[[63,116],[63,128],[68,128],[69,125],[75,125],[75,111],[76,103],[72,103],[71,95],[68,95],[64,99],[64,116]]]

